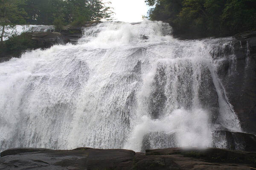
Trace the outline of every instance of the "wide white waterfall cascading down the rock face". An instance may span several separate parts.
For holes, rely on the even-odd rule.
[[[175,134],[178,147],[210,147],[215,129],[241,131],[210,54],[215,40],[181,41],[171,30],[100,23],[77,45],[0,63],[0,150],[140,151],[151,132]]]

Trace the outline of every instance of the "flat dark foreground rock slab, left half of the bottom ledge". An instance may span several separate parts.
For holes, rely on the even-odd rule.
[[[47,150],[18,148],[1,153],[0,170],[128,170],[133,164],[132,150]]]

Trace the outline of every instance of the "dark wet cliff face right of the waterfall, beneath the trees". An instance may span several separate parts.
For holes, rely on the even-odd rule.
[[[218,64],[218,76],[242,129],[256,134],[256,31],[235,38],[232,47],[213,55],[223,58]]]

